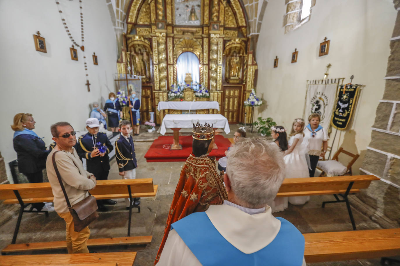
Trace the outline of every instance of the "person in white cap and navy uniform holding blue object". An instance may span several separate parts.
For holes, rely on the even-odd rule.
[[[86,159],[86,169],[93,173],[97,180],[106,180],[110,171],[108,154],[114,147],[108,140],[107,135],[99,132],[99,127],[100,123],[97,118],[88,118],[86,120],[88,133],[79,137],[76,151],[80,158]],[[102,146],[107,147],[104,152],[100,151]],[[114,205],[116,203],[112,199],[99,199],[97,200],[98,211],[108,211],[104,205]]]

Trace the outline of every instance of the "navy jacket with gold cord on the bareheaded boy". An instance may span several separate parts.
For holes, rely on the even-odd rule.
[[[120,172],[138,167],[132,136],[129,136],[129,142],[122,135],[116,140],[115,158]]]

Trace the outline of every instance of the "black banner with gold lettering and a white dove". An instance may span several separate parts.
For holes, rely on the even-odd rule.
[[[345,130],[350,122],[358,95],[358,85],[340,85],[338,98],[336,99],[332,115],[332,126],[338,130]]]

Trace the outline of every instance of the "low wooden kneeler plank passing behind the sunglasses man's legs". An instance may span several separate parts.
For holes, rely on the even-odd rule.
[[[140,245],[151,243],[152,236],[125,236],[111,238],[90,238],[86,242],[88,247],[116,246],[116,245]],[[24,244],[9,244],[1,251],[2,255],[10,252],[29,252],[35,250],[52,250],[66,248],[66,241],[36,242]]]

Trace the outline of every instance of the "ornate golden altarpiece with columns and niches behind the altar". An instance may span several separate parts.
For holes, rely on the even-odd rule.
[[[158,111],[157,105],[168,100],[170,85],[177,83],[176,61],[189,51],[198,57],[199,83],[220,105],[220,111],[197,111],[221,113],[230,123],[244,122],[250,108],[243,102],[254,88],[257,64],[242,2],[132,0],[126,25],[117,69],[142,76],[142,121],[155,112],[160,124],[165,114],[174,112]]]

